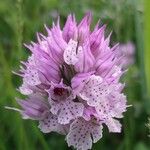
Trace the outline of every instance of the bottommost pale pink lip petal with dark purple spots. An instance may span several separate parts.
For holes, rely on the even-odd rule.
[[[67,135],[67,143],[77,150],[88,150],[92,143],[96,143],[102,137],[102,126],[84,119],[75,120],[70,126]]]

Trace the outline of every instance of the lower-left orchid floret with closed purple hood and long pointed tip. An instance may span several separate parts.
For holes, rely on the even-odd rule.
[[[59,124],[58,117],[50,112],[50,105],[42,95],[33,94],[25,100],[17,99],[17,102],[22,109],[7,108],[19,111],[23,119],[37,120],[42,132],[57,132],[65,135],[68,131],[68,126]]]

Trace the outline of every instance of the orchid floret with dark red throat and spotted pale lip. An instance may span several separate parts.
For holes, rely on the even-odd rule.
[[[60,84],[51,84],[49,103],[51,112],[58,116],[60,124],[68,124],[71,120],[82,116],[84,105],[76,101],[70,87]]]

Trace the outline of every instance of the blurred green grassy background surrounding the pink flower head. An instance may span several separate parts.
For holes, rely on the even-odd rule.
[[[112,41],[136,46],[135,64],[123,77],[128,108],[122,121],[121,134],[105,129],[103,138],[93,150],[149,150],[146,127],[150,116],[150,1],[149,0],[0,0],[0,150],[69,150],[64,137],[56,133],[42,134],[37,123],[4,106],[18,105],[21,97],[16,88],[21,79],[12,74],[20,60],[29,55],[23,43],[36,40],[44,24],[51,26],[58,14],[63,26],[69,13],[79,21],[93,13],[93,25],[100,18],[113,30]]]

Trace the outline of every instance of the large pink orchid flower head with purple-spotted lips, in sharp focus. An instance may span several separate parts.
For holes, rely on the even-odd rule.
[[[121,132],[118,121],[126,111],[126,96],[120,83],[123,74],[118,44],[110,47],[110,35],[99,22],[90,31],[91,14],[79,24],[69,15],[63,29],[57,24],[47,36],[26,45],[32,55],[22,62],[23,84],[18,100],[23,118],[39,121],[42,132],[66,135],[68,146],[88,150],[102,138],[105,124],[109,132]]]

